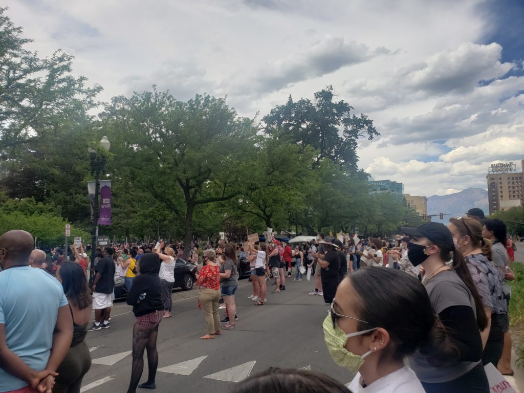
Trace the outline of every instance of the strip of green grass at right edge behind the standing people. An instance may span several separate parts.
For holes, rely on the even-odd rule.
[[[517,359],[516,363],[524,365],[524,264],[514,262],[511,269],[515,280],[509,282],[511,300],[509,302],[509,325],[514,337]]]

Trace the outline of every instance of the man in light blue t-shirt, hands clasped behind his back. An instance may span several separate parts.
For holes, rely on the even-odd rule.
[[[62,286],[29,266],[33,245],[25,231],[0,236],[0,392],[51,393],[73,337]]]

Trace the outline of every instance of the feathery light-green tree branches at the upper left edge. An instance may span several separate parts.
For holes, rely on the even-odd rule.
[[[21,38],[0,8],[0,158],[15,157],[19,147],[38,141],[60,125],[89,119],[102,88],[86,88],[85,77],[71,74],[73,57],[62,51],[49,59],[25,49]]]

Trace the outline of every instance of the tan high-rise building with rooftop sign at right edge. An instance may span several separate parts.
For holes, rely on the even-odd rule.
[[[524,160],[520,165],[520,172],[515,162],[494,163],[488,168],[489,214],[524,205]]]

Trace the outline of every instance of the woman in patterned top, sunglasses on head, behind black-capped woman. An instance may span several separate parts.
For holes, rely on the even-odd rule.
[[[447,225],[453,235],[455,247],[460,250],[470,269],[470,274],[481,296],[488,325],[481,332],[484,352],[482,363],[493,363],[497,367],[504,346],[504,332],[500,319],[507,315],[508,308],[502,282],[504,274],[494,267],[491,259],[491,243],[482,237],[482,225],[470,217],[450,219]]]

